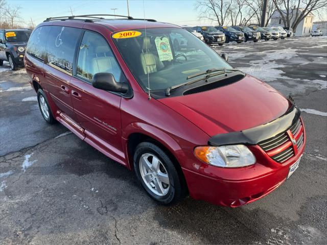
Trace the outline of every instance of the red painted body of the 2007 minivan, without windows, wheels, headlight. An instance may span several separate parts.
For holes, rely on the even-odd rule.
[[[168,23],[149,21],[146,24],[147,28],[178,28]],[[289,101],[251,76],[211,91],[149,100],[111,39],[112,32],[144,28],[144,21],[89,23],[66,20],[43,22],[39,27],[51,25],[101,34],[129,81],[133,97],[127,99],[94,88],[27,53],[25,65],[29,82],[34,89],[38,86],[43,88],[51,111],[61,124],[128,169],[133,169],[129,140],[135,134],[146,135],[176,158],[191,197],[237,207],[264,197],[282,184],[290,165],[303,153],[305,135],[297,154],[283,164],[274,161],[259,145],[249,146],[256,158],[254,165],[221,168],[201,162],[194,155],[196,146],[206,145],[208,139],[216,134],[266,124],[283,115],[290,107]],[[304,132],[303,122],[300,130]]]

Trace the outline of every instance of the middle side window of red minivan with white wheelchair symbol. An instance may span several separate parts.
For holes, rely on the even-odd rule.
[[[78,28],[52,26],[46,45],[47,63],[71,75],[76,45],[81,32],[82,30]]]

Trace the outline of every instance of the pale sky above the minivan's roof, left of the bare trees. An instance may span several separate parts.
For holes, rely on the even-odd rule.
[[[71,15],[70,8],[72,8],[74,15],[113,14],[113,10],[111,10],[112,8],[117,8],[116,14],[127,15],[126,0],[7,0],[7,3],[11,6],[21,7],[20,16],[24,19],[27,26],[31,22],[31,17],[36,26],[46,17]],[[195,3],[196,1],[192,0],[145,0],[145,17],[179,25],[190,24],[191,26],[195,26],[198,23],[210,24],[211,21],[198,20]],[[130,15],[134,18],[143,18],[143,0],[129,0],[129,11]]]

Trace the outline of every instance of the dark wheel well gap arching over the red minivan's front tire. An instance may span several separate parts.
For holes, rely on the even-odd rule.
[[[152,138],[149,135],[146,135],[143,133],[132,133],[129,135],[128,141],[127,141],[127,151],[128,151],[128,155],[129,155],[129,159],[130,159],[130,163],[131,163],[130,164],[131,169],[134,169],[133,155],[134,155],[136,146],[142,142],[151,142],[151,143],[155,144],[169,156],[169,158],[172,160],[172,162],[177,170],[177,174],[179,176],[179,179],[180,179],[180,182],[182,185],[182,189],[184,190],[184,195],[188,194],[189,193],[188,185],[186,184],[185,176],[183,174],[182,168],[181,168],[177,158],[174,156],[174,154],[171,153],[171,151],[164,144],[162,144],[161,142]]]

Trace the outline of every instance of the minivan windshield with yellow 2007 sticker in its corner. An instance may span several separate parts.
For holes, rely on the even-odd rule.
[[[148,91],[166,90],[208,69],[232,68],[192,33],[180,28],[131,30],[136,37],[112,39],[137,82]],[[126,33],[126,32],[125,32]],[[126,35],[128,36],[128,35]]]

